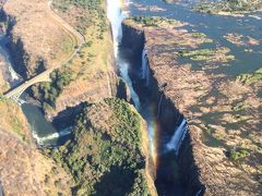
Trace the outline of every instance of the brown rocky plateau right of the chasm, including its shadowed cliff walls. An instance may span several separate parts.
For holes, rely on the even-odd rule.
[[[162,124],[169,132],[174,132],[179,113],[189,121],[189,134],[178,156],[181,176],[188,184],[188,194],[202,189],[206,194],[234,195],[248,192],[255,195],[260,192],[260,183],[257,179],[260,176],[260,170],[257,168],[260,147],[253,139],[257,140],[260,135],[261,120],[258,103],[261,100],[249,86],[234,79],[228,81],[225,75],[193,71],[189,64],[180,63],[179,59],[188,58],[181,56],[180,50],[198,51],[199,46],[209,40],[202,33],[198,34],[201,36],[195,36],[196,33],[183,29],[184,25],[187,24],[174,21],[170,26],[170,23],[165,25],[165,20],[152,19],[147,19],[144,23],[141,19],[138,22],[126,21],[123,28],[133,28],[131,30],[133,33],[139,32],[127,35],[129,40],[132,40],[130,42],[141,41],[140,35],[144,34],[144,48],[147,51],[150,66],[148,88],[153,99],[159,102]],[[126,33],[128,32],[130,30]],[[209,59],[204,57],[201,59],[209,65]],[[217,59],[216,63],[222,59],[230,61],[226,56]],[[245,109],[236,109],[235,106],[239,101],[245,105]],[[252,113],[243,113],[250,110]],[[219,123],[217,124],[213,118]],[[243,128],[238,132],[240,127],[252,127],[252,130]],[[247,132],[250,136],[243,134]],[[254,160],[257,162],[253,162]],[[231,177],[225,179],[222,173],[227,173]],[[245,177],[234,177],[236,174]],[[210,177],[211,175],[213,177]],[[236,184],[245,184],[247,189],[240,186],[235,188]]]

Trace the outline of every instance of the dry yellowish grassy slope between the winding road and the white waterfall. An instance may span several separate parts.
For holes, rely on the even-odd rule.
[[[70,62],[69,68],[73,72],[72,82],[64,86],[58,96],[56,108],[47,111],[49,119],[66,110],[67,107],[112,97],[118,83],[107,19],[100,19],[96,11],[86,11],[84,8],[73,5],[73,3],[67,11],[61,11],[57,8],[59,3],[62,1],[53,1],[53,10],[84,35],[87,45],[83,46],[78,56]],[[102,2],[99,8],[105,11],[105,2]],[[80,13],[82,13],[82,17],[80,17]],[[83,21],[79,21],[79,19]],[[100,30],[99,24],[104,25],[105,32]]]

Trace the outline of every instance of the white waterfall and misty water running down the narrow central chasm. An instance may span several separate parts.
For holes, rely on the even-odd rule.
[[[129,87],[132,101],[136,110],[145,119],[147,123],[147,132],[150,137],[150,151],[153,158],[153,164],[156,172],[155,185],[159,195],[182,195],[182,185],[176,182],[179,177],[172,177],[167,174],[174,173],[179,175],[176,156],[178,155],[181,143],[187,133],[187,121],[179,119],[180,125],[174,127],[174,135],[167,135],[163,128],[158,115],[160,101],[155,102],[150,96],[150,65],[147,60],[147,51],[144,49],[138,61],[141,69],[134,70],[132,64],[133,59],[126,56],[126,49],[121,46],[122,40],[122,21],[128,16],[127,12],[122,11],[120,0],[107,0],[108,19],[111,23],[111,32],[115,46],[115,58],[120,76]],[[133,51],[138,52],[138,51]],[[130,76],[130,72],[138,76],[136,79]],[[142,85],[136,84],[140,83]],[[138,90],[136,88],[141,88]],[[143,86],[143,87],[142,87]],[[147,91],[140,94],[140,91]],[[182,115],[181,115],[182,117]],[[171,179],[170,179],[171,176]]]

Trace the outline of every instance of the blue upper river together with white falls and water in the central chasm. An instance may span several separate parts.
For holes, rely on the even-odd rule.
[[[131,97],[136,110],[147,122],[148,136],[151,140],[151,155],[154,159],[157,177],[155,185],[159,195],[184,195],[184,185],[179,181],[179,168],[176,162],[178,149],[187,132],[187,121],[181,119],[181,124],[174,127],[174,135],[166,134],[157,120],[157,105],[146,98],[146,86],[148,85],[148,65],[146,64],[146,51],[134,57],[127,54],[128,49],[121,47],[121,21],[129,14],[130,16],[165,16],[189,23],[186,28],[189,32],[204,33],[214,42],[209,48],[227,47],[229,54],[235,56],[230,64],[223,64],[212,69],[210,72],[226,75],[228,78],[242,73],[251,73],[261,68],[262,45],[237,46],[226,40],[227,34],[239,34],[247,39],[248,37],[262,41],[262,23],[259,17],[245,15],[243,17],[219,16],[201,14],[191,11],[195,1],[179,1],[179,3],[167,3],[162,0],[127,0],[123,1],[124,12],[121,11],[119,0],[108,0],[108,17],[112,25],[115,38],[115,57],[123,81],[131,90]],[[128,11],[128,12],[127,12]],[[257,15],[261,15],[257,13]],[[133,51],[134,52],[134,51]],[[203,70],[203,64],[189,61],[193,70]],[[135,65],[136,64],[136,65]],[[141,70],[134,70],[138,64]],[[134,75],[134,76],[131,76]],[[138,83],[144,82],[143,96],[138,95]],[[131,83],[130,83],[131,82]],[[160,105],[160,103],[159,103]],[[195,193],[198,194],[198,193]]]

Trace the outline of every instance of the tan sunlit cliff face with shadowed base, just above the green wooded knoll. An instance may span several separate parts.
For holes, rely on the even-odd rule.
[[[56,101],[53,110],[46,111],[48,120],[64,121],[78,113],[81,105],[87,102],[98,102],[104,98],[127,97],[124,84],[121,83],[114,70],[108,72],[97,72],[88,81],[76,81],[66,87]]]

